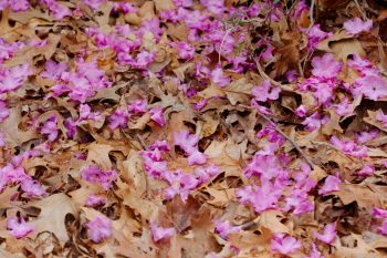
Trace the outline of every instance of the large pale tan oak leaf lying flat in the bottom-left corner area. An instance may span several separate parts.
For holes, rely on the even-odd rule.
[[[32,233],[33,237],[43,231],[50,231],[55,235],[59,241],[64,245],[69,240],[65,227],[65,217],[72,214],[79,216],[79,207],[65,194],[51,195],[44,199],[31,203],[29,206],[41,209],[38,218],[31,221],[35,227]]]

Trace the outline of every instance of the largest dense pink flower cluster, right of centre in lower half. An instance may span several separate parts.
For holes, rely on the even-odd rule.
[[[316,186],[316,182],[310,178],[311,168],[302,164],[301,171],[294,174],[292,183],[285,168],[286,163],[285,156],[279,159],[274,153],[268,155],[258,152],[244,168],[244,173],[247,177],[259,177],[261,185],[249,185],[237,189],[239,200],[252,205],[257,213],[266,209],[292,210],[294,215],[312,211],[314,206],[308,199],[308,192]]]

